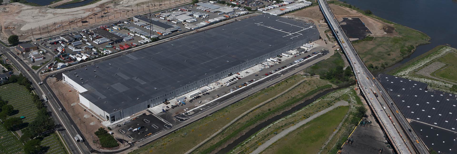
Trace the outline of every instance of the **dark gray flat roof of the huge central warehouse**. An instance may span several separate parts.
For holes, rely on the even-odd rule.
[[[279,31],[282,29],[294,33],[302,30],[297,26],[309,28],[313,25],[303,25],[302,22],[274,15],[258,15],[138,50],[128,55],[97,62],[94,65],[86,66],[87,70],[77,69],[67,72],[65,75],[75,82],[87,81],[85,84],[94,88],[81,93],[83,97],[93,95],[94,91],[105,95],[105,99],[93,99],[96,98],[94,96],[88,100],[107,113],[112,113],[115,112],[113,109],[126,109],[300,40],[319,35],[316,29],[309,28],[299,32],[302,35],[291,39],[294,35],[286,36],[287,33]],[[131,57],[135,57],[136,60]],[[77,72],[79,77],[75,77],[73,72]],[[98,77],[94,77],[95,75]],[[141,84],[134,80],[135,77],[146,83]],[[126,86],[127,89],[119,90],[122,91],[119,92],[115,88],[106,88],[117,83]],[[137,86],[143,87],[148,93],[144,94],[143,90],[136,88]],[[131,93],[131,91],[134,92]],[[109,104],[107,105],[104,103],[105,101],[128,101],[128,103],[107,103]]]

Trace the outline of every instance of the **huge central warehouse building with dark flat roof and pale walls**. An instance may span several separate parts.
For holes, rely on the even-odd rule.
[[[314,25],[258,15],[72,70],[63,80],[81,104],[115,122],[319,38]]]

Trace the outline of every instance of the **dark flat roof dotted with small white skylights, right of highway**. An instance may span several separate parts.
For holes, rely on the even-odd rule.
[[[377,77],[406,118],[456,131],[455,94],[427,89],[426,83],[392,75],[379,74]]]

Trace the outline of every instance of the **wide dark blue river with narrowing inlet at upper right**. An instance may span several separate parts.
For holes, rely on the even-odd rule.
[[[341,0],[343,1],[343,0]],[[419,30],[431,37],[409,57],[385,69],[385,72],[424,54],[437,45],[457,45],[457,0],[344,0],[347,4],[371,10],[386,20]]]

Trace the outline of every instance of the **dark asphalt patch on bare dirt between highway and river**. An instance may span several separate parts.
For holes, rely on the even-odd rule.
[[[358,38],[359,40],[365,39],[367,35],[372,34],[368,28],[363,25],[360,18],[343,18],[343,21],[340,23],[346,23],[341,25],[341,28],[345,30],[347,37],[349,38]],[[365,31],[368,30],[368,31]]]

